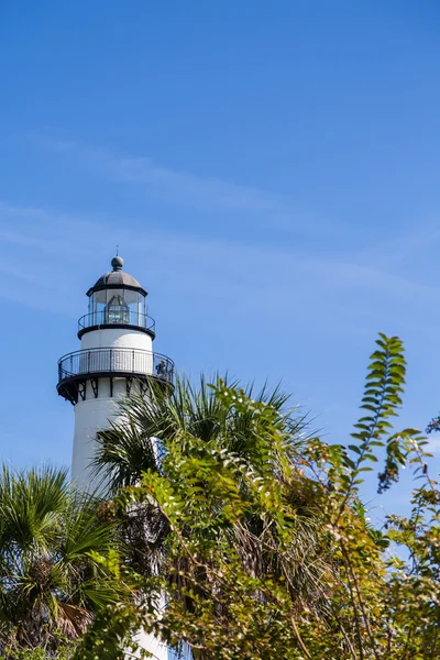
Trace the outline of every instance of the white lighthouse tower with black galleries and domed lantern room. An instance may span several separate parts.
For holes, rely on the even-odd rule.
[[[87,292],[88,311],[78,321],[80,350],[58,361],[57,391],[75,410],[72,479],[84,491],[102,490],[91,461],[96,435],[119,415],[131,393],[148,395],[153,381],[173,387],[174,362],[153,352],[155,321],[146,311],[147,292],[125,273],[123,260]]]

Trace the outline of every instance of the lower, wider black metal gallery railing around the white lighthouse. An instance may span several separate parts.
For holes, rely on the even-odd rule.
[[[173,383],[174,362],[161,353],[122,348],[75,351],[58,361],[58,385],[66,380],[102,374],[154,376]]]

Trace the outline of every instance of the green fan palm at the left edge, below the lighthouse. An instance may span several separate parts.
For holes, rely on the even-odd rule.
[[[56,651],[76,639],[94,614],[117,601],[106,570],[92,559],[111,547],[114,529],[99,502],[76,493],[53,468],[0,473],[0,654],[11,648]]]

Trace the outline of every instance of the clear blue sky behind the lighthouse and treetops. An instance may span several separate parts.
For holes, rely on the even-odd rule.
[[[56,362],[117,243],[180,371],[282,380],[345,441],[376,332],[395,333],[403,424],[425,427],[439,31],[429,1],[3,2],[1,458],[69,463]]]

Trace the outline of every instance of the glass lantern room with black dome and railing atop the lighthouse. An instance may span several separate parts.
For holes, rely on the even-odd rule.
[[[123,258],[111,260],[112,271],[89,288],[89,312],[78,321],[78,338],[98,328],[133,328],[155,338],[155,322],[145,308],[147,290],[124,273]]]

